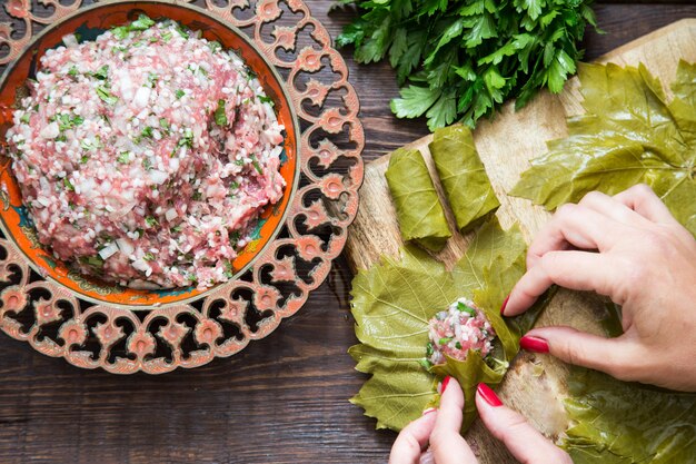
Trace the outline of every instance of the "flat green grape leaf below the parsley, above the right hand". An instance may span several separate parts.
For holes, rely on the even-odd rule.
[[[696,235],[696,66],[679,62],[669,101],[643,65],[583,65],[579,79],[586,113],[568,119],[568,137],[548,142],[510,195],[551,210],[645,182]]]

